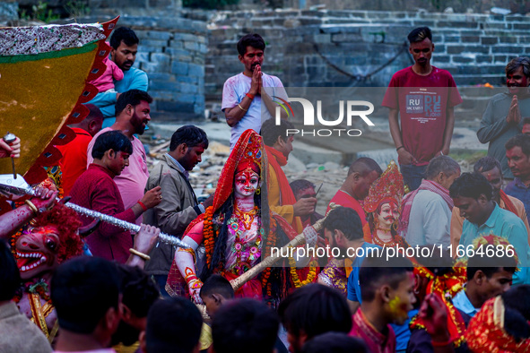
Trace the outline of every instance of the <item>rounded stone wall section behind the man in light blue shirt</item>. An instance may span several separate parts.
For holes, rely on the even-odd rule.
[[[102,22],[110,17],[83,17],[82,22]],[[204,56],[206,23],[180,13],[120,17],[119,26],[135,30],[140,45],[135,67],[149,77],[154,98],[152,116],[189,119],[204,115]]]

